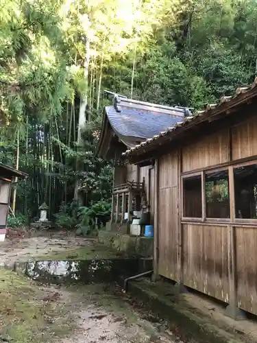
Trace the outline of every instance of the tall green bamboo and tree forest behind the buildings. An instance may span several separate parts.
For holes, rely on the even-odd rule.
[[[0,161],[29,174],[13,211],[108,208],[103,90],[203,108],[253,81],[256,37],[254,0],[1,1]]]

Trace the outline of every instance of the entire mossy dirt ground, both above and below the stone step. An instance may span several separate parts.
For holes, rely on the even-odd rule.
[[[75,256],[79,250],[102,257],[113,253],[95,239],[57,233],[7,240],[0,246],[0,259],[12,266],[32,257]],[[0,342],[4,334],[19,343],[183,343],[167,323],[141,311],[117,285],[40,285],[1,268],[0,277],[0,301],[7,304],[0,309]]]

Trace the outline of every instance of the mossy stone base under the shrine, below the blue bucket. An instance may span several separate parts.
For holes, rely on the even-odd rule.
[[[98,241],[128,256],[152,257],[154,254],[154,238],[99,231]]]

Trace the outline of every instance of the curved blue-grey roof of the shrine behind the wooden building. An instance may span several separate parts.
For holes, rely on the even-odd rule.
[[[123,137],[148,139],[182,120],[179,110],[174,110],[173,117],[166,113],[156,113],[154,110],[151,112],[127,106],[121,106],[120,110],[121,112],[117,112],[114,106],[106,106],[110,125]],[[180,113],[180,116],[175,117],[176,113]]]

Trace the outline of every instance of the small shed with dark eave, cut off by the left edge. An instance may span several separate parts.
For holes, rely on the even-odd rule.
[[[26,178],[27,174],[0,163],[0,241],[4,241],[13,178]]]

